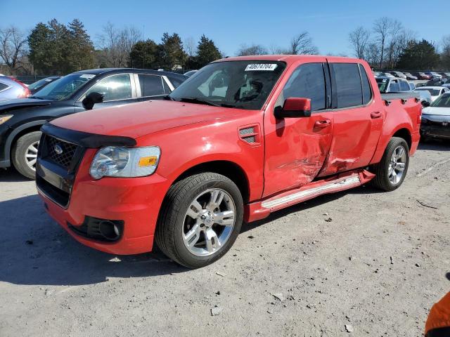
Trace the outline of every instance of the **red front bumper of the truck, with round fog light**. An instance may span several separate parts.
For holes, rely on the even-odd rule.
[[[169,182],[158,174],[94,180],[88,173],[91,157],[86,155],[80,164],[67,205],[60,206],[45,188],[46,182],[37,179],[47,213],[78,242],[94,249],[119,255],[152,251],[158,213]],[[91,219],[119,223],[120,233],[116,239],[102,237]],[[93,227],[89,227],[90,223],[94,223]]]

